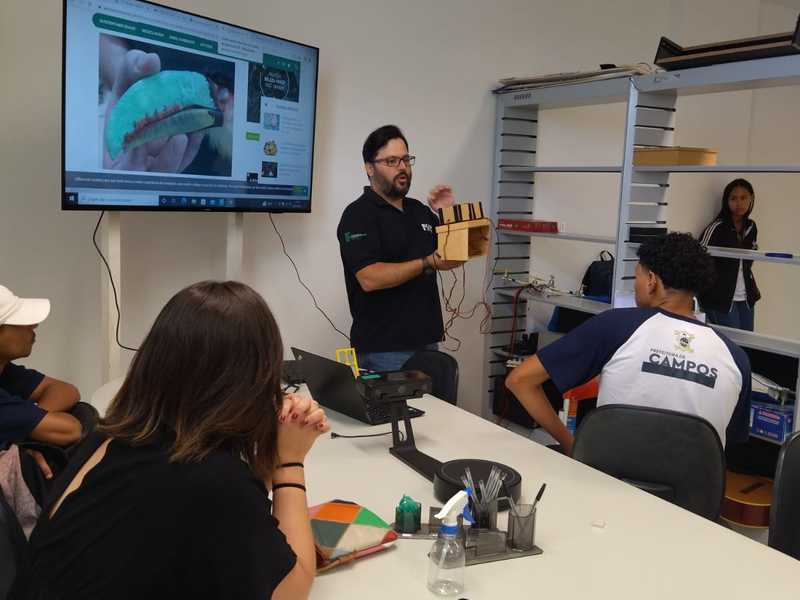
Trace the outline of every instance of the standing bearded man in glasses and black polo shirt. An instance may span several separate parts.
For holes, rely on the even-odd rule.
[[[359,366],[401,369],[414,352],[435,348],[444,327],[436,271],[461,262],[436,253],[436,215],[406,196],[414,156],[395,125],[369,134],[362,150],[370,185],[342,214],[337,229]],[[437,186],[430,202],[452,199]]]

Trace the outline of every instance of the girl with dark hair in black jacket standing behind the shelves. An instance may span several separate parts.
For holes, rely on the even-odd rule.
[[[755,193],[746,179],[734,179],[722,193],[717,218],[703,230],[704,246],[755,250],[758,227],[750,218]],[[727,327],[753,331],[755,303],[761,293],[753,277],[753,261],[714,257],[716,281],[700,297],[708,321]]]

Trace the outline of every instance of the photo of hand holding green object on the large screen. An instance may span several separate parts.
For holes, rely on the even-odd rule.
[[[234,64],[100,36],[105,169],[229,177]]]

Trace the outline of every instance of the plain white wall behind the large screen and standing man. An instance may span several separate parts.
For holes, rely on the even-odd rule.
[[[757,30],[761,14],[755,0],[709,1],[703,11],[688,0],[613,0],[604,2],[602,10],[595,2],[544,0],[168,3],[321,48],[314,211],[278,215],[275,221],[320,304],[345,330],[350,317],[335,228],[341,210],[366,181],[360,148],[374,127],[395,122],[405,130],[418,157],[412,186],[417,197],[436,183],[449,182],[460,199],[488,202],[494,139],[494,101],[488,90],[497,78],[586,69],[600,61],[652,60],[662,34],[686,44],[747,35]],[[764,26],[775,11],[762,11]],[[41,328],[30,364],[75,381],[89,395],[100,384],[101,273],[89,240],[96,215],[58,210],[60,38],[60,2],[6,0],[0,5],[6,82],[0,99],[0,281],[20,293],[53,299],[53,316]],[[725,115],[746,112],[748,100],[741,100],[744,106],[723,102],[729,107],[713,112],[719,125],[709,127],[727,136]],[[707,114],[685,112],[679,128],[685,127],[684,119],[708,121]],[[580,131],[580,122],[573,122]],[[543,144],[558,133],[553,131]],[[739,134],[730,136],[721,139],[739,148]],[[613,151],[613,142],[597,143]],[[707,185],[709,193],[716,189]],[[597,215],[586,216],[586,222],[574,223],[575,230],[592,230]],[[225,216],[125,214],[122,230],[122,337],[135,345],[180,287],[224,276]],[[244,280],[273,308],[287,347],[328,354],[341,345],[342,338],[296,283],[267,217],[247,216],[245,236]],[[576,258],[565,271],[579,270],[580,264],[585,261]],[[480,295],[482,277],[480,264],[469,266],[472,301]],[[457,354],[462,402],[476,411],[484,385],[478,320],[454,329],[463,340]]]

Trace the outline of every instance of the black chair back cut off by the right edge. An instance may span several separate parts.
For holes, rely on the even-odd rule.
[[[778,455],[769,545],[800,560],[800,432],[784,442]]]

